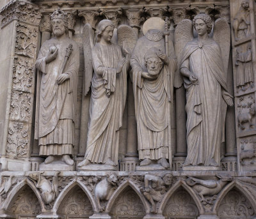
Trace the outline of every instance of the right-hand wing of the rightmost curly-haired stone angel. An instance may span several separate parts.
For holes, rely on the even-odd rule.
[[[228,59],[230,52],[230,27],[225,19],[220,18],[214,22],[212,38],[220,45],[225,79],[227,79]]]

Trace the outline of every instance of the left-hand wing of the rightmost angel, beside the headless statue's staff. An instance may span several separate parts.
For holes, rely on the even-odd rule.
[[[182,76],[180,75],[180,62],[181,62],[181,54],[182,50],[184,49],[185,45],[193,40],[193,24],[192,21],[189,19],[184,19],[179,22],[177,27],[175,28],[174,32],[174,49],[175,54],[178,59],[178,68],[177,72],[175,73],[174,79],[174,86],[180,87],[183,83]]]

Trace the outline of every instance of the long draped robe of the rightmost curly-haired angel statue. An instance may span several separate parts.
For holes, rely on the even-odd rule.
[[[224,141],[227,91],[220,46],[212,39],[187,43],[181,68],[195,73],[198,84],[184,77],[186,88],[187,143],[186,165],[220,165],[220,144]]]

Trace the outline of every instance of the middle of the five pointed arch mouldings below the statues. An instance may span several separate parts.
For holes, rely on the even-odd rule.
[[[113,195],[111,196],[111,199],[109,199],[109,202],[106,206],[106,213],[109,213],[111,211],[111,209],[113,208],[113,205],[115,204],[115,200],[118,198],[118,196],[128,187],[130,186],[132,188],[132,190],[134,190],[134,192],[136,192],[136,194],[138,195],[138,197],[140,197],[141,202],[143,203],[143,206],[145,208],[146,213],[150,212],[150,207],[149,204],[147,202],[147,200],[145,199],[145,197],[141,194],[140,189],[131,181],[129,181],[129,179],[127,179],[126,181],[124,181],[124,183],[122,183],[122,185],[120,185],[117,190],[115,190],[115,192],[113,193]]]

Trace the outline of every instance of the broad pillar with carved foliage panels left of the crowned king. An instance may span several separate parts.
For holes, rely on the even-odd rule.
[[[31,127],[40,9],[27,1],[10,1],[0,11],[0,144],[6,170],[31,170]],[[6,101],[7,100],[7,101]]]

